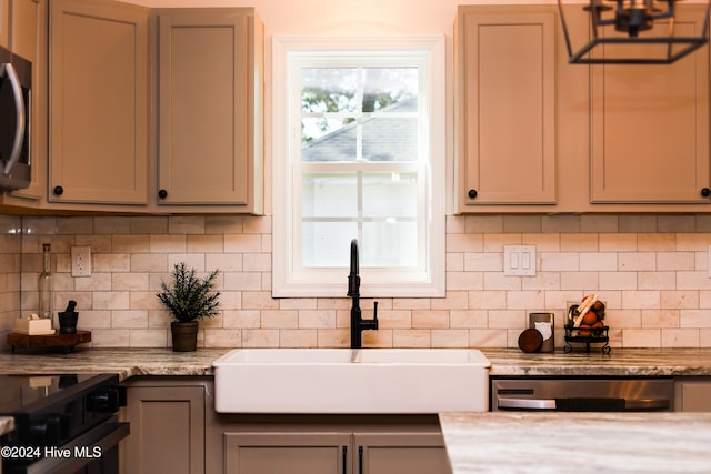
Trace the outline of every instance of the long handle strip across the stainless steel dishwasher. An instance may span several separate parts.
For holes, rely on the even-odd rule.
[[[498,399],[499,410],[561,412],[665,411],[668,399]]]

